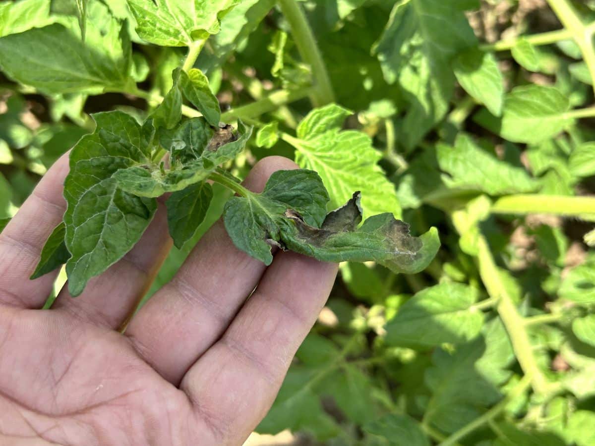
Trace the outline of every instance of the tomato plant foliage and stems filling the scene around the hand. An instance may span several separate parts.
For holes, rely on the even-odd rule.
[[[71,149],[32,279],[73,297],[158,197],[145,300],[220,217],[267,265],[340,262],[259,432],[591,445],[593,33],[593,1],[4,2],[0,230]],[[299,169],[243,187],[268,155]]]

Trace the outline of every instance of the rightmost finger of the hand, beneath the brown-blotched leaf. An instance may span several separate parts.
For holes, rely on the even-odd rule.
[[[284,252],[180,388],[218,444],[242,444],[265,416],[328,298],[337,265]]]

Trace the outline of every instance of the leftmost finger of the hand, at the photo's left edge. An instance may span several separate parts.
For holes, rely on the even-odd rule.
[[[67,174],[68,153],[43,175],[0,234],[0,304],[39,308],[51,293],[58,271],[35,280],[29,277],[49,234],[62,221],[66,210],[62,190]]]

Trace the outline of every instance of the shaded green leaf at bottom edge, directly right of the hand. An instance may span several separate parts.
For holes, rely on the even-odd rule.
[[[256,428],[261,434],[278,434],[284,429],[305,431],[318,440],[339,433],[333,418],[322,410],[318,396],[312,390],[312,375],[308,369],[291,368],[281,385],[277,399],[267,416]]]

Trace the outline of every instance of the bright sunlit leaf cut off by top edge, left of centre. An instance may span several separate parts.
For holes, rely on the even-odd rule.
[[[127,0],[136,32],[159,46],[188,46],[220,30],[221,18],[239,0]]]

